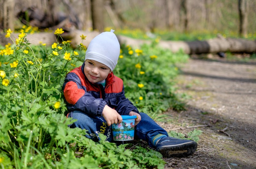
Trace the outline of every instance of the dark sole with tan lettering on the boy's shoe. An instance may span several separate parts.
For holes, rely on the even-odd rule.
[[[192,155],[197,149],[196,142],[188,142],[179,145],[162,146],[157,149],[164,158],[187,157]]]

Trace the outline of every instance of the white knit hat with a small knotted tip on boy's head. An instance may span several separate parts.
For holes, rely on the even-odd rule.
[[[110,32],[103,32],[97,35],[88,45],[85,61],[87,59],[100,62],[114,70],[120,55],[120,44],[116,35],[111,29]]]

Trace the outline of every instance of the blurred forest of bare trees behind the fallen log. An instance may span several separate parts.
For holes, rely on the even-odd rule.
[[[255,0],[0,0],[0,29],[221,33],[256,37]]]

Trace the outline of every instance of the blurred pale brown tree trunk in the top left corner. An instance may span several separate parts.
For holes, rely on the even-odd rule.
[[[14,30],[14,0],[0,0],[0,29]]]

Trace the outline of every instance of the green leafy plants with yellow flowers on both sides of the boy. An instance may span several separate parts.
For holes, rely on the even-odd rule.
[[[127,86],[127,97],[152,117],[169,107],[184,108],[172,85],[179,72],[175,63],[187,59],[156,45],[133,54],[123,47],[115,70]],[[105,141],[102,134],[95,143],[85,137],[86,130],[68,127],[75,120],[65,116],[61,87],[65,75],[82,64],[84,53],[83,44],[73,50],[69,41],[30,46],[25,33],[13,45],[0,47],[2,168],[163,168],[161,154],[152,149],[129,150],[127,144]]]

